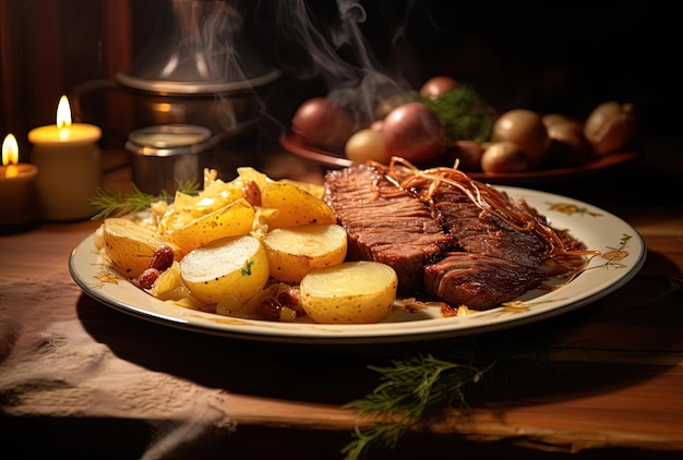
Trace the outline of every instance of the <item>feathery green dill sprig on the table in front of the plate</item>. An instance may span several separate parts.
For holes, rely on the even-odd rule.
[[[359,416],[373,415],[380,421],[355,427],[351,441],[342,449],[345,460],[363,459],[378,447],[394,449],[404,434],[439,410],[466,409],[468,390],[475,384],[492,380],[494,374],[510,371],[520,360],[539,361],[547,348],[510,338],[493,343],[463,339],[447,352],[447,360],[417,352],[392,360],[387,367],[368,366],[381,375],[381,384],[370,395],[344,407],[355,409]]]

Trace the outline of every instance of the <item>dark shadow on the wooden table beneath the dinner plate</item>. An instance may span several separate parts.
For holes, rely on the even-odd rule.
[[[476,350],[469,356],[472,362],[498,359],[504,371],[488,385],[474,387],[474,398],[507,398],[512,391],[508,403],[514,404],[511,401],[528,403],[539,396],[563,399],[613,391],[664,372],[666,365],[592,362],[591,353],[682,350],[683,296],[676,291],[681,279],[676,271],[670,261],[652,253],[633,280],[594,304],[504,331],[423,342],[323,346],[237,340],[133,317],[85,294],[77,314],[86,330],[117,356],[151,371],[236,394],[332,404],[361,398],[380,384],[380,375],[369,365],[391,366],[392,360],[418,352],[448,361],[467,348]],[[663,299],[657,298],[667,291],[671,292]],[[559,364],[553,361],[558,350],[586,358]],[[574,366],[582,372],[573,373]]]

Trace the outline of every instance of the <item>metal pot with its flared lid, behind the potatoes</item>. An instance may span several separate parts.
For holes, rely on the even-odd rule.
[[[118,125],[103,126],[105,132],[111,128],[128,140],[128,133],[146,126],[204,126],[216,137],[214,146],[224,144],[228,150],[214,148],[221,157],[207,166],[223,174],[245,166],[239,164],[244,158],[253,164],[254,155],[233,161],[225,156],[235,150],[233,144],[254,137],[280,71],[259,60],[241,34],[238,9],[229,2],[169,0],[161,5],[156,33],[130,70],[113,81],[95,80],[74,88],[70,97],[74,119],[88,118],[84,109],[88,97],[95,104],[110,104],[115,95],[116,104],[128,112],[107,117],[104,122]],[[99,96],[93,99],[95,95]]]

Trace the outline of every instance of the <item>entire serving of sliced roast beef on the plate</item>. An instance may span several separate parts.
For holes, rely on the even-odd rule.
[[[448,180],[369,165],[328,172],[325,201],[347,230],[350,257],[394,267],[403,294],[423,290],[471,308],[538,288],[548,254],[568,246],[567,234],[524,202],[455,172]]]

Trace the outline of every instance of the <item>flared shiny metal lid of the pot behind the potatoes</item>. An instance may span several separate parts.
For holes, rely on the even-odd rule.
[[[187,94],[249,90],[280,71],[265,65],[242,31],[243,17],[225,1],[161,2],[156,33],[119,84],[133,89]]]

